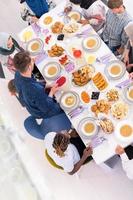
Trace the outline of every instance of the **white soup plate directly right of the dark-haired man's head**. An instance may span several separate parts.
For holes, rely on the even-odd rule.
[[[54,68],[55,73],[54,72],[53,72],[53,74],[49,74],[48,73],[50,67]],[[49,79],[49,80],[56,80],[59,77],[60,73],[61,73],[61,66],[57,62],[49,62],[49,63],[47,63],[44,66],[43,71],[42,71],[43,76],[46,79]]]

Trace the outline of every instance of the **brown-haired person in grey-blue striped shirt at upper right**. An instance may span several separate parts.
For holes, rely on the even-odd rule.
[[[113,53],[121,54],[128,40],[124,27],[132,18],[127,13],[123,0],[109,0],[108,7],[101,37]]]

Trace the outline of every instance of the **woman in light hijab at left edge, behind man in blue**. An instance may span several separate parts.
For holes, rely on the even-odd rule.
[[[11,72],[15,71],[13,64],[14,53],[22,50],[23,48],[9,33],[0,33],[0,60],[2,65],[6,65]]]

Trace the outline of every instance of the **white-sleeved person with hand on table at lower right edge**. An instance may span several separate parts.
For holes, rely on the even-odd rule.
[[[133,180],[133,146],[128,146],[126,150],[124,150],[124,148],[118,145],[115,152],[121,157],[122,167],[127,177]]]

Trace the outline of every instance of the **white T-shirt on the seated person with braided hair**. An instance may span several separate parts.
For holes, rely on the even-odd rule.
[[[45,136],[45,148],[57,165],[61,166],[64,171],[71,172],[74,169],[74,165],[80,160],[78,150],[73,144],[69,144],[67,150],[64,152],[65,156],[58,156],[52,146],[55,135],[55,132],[50,132]]]

